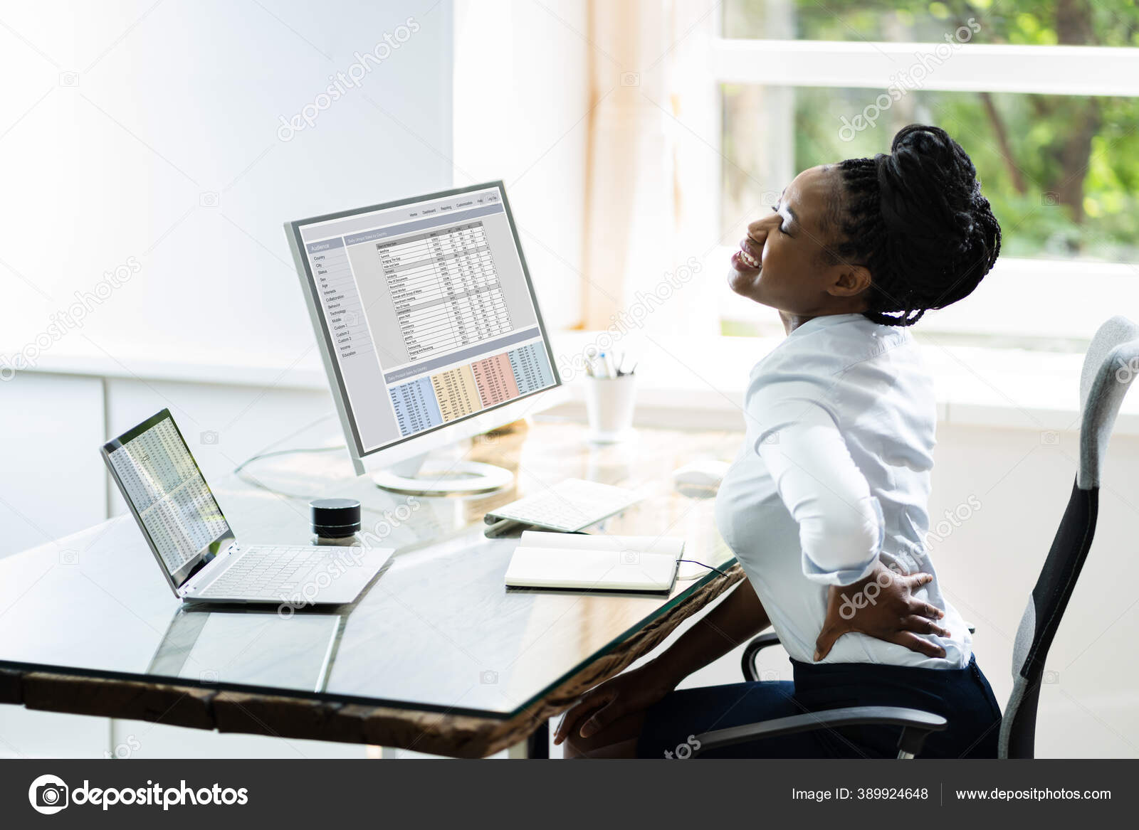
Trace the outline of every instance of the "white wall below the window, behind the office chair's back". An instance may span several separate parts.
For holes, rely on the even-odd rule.
[[[1055,437],[1055,443],[1051,443]],[[977,626],[974,651],[1001,706],[1011,651],[1075,479],[1079,436],[1035,430],[939,430],[931,513],[975,495],[981,509],[934,548],[947,595]],[[1104,465],[1096,539],[1046,664],[1036,721],[1039,757],[1139,755],[1139,667],[1130,659],[1139,605],[1139,437],[1113,437]]]

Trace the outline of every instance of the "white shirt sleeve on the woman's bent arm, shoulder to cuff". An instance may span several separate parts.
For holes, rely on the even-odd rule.
[[[849,585],[878,560],[882,508],[812,387],[776,383],[752,398],[748,417],[759,427],[752,432],[754,449],[798,523],[803,574]]]

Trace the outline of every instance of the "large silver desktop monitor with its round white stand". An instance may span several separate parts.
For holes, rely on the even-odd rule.
[[[509,484],[474,462],[415,476],[428,451],[562,385],[502,182],[285,229],[357,472],[411,493]]]

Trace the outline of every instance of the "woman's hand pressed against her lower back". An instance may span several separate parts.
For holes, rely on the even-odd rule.
[[[814,643],[814,659],[821,660],[830,654],[835,641],[852,631],[927,657],[944,657],[945,649],[920,635],[951,636],[936,622],[945,615],[913,595],[932,581],[929,574],[906,576],[878,562],[865,580],[852,585],[831,585],[827,591],[827,617]]]

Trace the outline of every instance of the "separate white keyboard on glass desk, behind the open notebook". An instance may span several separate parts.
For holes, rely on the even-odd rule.
[[[500,519],[521,521],[534,527],[573,533],[618,513],[640,500],[631,490],[611,484],[566,480],[533,495],[513,501],[486,513],[486,524]]]

